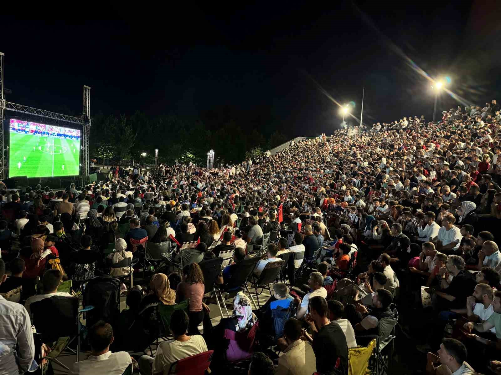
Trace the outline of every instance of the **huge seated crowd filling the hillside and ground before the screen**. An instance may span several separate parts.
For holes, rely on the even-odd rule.
[[[36,366],[33,306],[71,296],[58,292],[62,280],[83,290],[95,276],[154,269],[145,287],[121,286],[128,308],[116,320],[88,325],[92,354],[70,373],[101,366],[122,374],[131,363],[167,373],[207,350],[211,369],[222,371],[240,358],[230,352],[243,334],[262,350],[239,353],[251,359],[249,374],[347,374],[350,350],[370,345],[361,336],[379,334],[382,319],[418,343],[426,373],[501,373],[499,111],[492,100],[444,111],[434,123],[409,116],[343,129],[225,169],[113,168],[108,181],[80,188],[2,191],[0,367]],[[166,248],[160,264],[147,262],[148,251]],[[234,297],[233,310],[212,326],[204,277],[225,251],[233,259],[214,283]],[[137,264],[112,267],[127,259]],[[276,262],[280,282],[257,308],[236,280],[250,265],[256,281]],[[131,359],[127,351],[168,333],[158,306],[188,299],[164,327],[173,339],[154,357]],[[287,320],[268,339],[280,356],[264,344],[277,309]]]

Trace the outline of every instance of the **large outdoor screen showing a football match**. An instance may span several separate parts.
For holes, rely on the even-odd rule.
[[[9,177],[76,176],[80,130],[11,119]]]

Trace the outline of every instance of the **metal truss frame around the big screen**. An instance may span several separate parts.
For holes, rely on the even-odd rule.
[[[4,144],[4,120],[5,111],[12,111],[23,115],[44,117],[47,119],[55,120],[56,122],[68,122],[83,127],[82,134],[82,169],[80,173],[80,178],[82,180],[82,185],[88,183],[89,180],[89,135],[90,135],[90,95],[91,88],[89,86],[84,86],[84,103],[82,117],[68,116],[61,113],[46,111],[43,109],[33,108],[24,106],[22,104],[16,104],[7,102],[5,100],[4,93],[4,54],[0,52],[0,180],[6,178],[6,156],[7,151]]]

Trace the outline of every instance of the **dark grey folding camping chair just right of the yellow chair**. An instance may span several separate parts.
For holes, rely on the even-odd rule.
[[[373,373],[375,375],[384,375],[390,374],[391,364],[393,362],[393,352],[395,346],[395,326],[398,322],[398,311],[395,307],[393,307],[393,312],[395,314],[392,318],[381,318],[379,320],[378,326],[378,334],[369,334],[364,336],[356,336],[356,337],[368,337],[376,339],[376,346],[374,348],[373,353]],[[386,361],[384,356],[381,354],[382,350],[390,344],[390,352],[388,353],[389,363],[386,365]]]

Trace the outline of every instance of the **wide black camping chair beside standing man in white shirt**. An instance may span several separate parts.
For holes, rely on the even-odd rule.
[[[66,345],[60,352],[67,348],[75,338],[78,338],[76,351],[68,348],[77,354],[77,361],[80,360],[80,318],[86,311],[90,311],[94,306],[87,306],[82,310],[78,309],[78,297],[53,296],[33,302],[30,310],[33,315],[33,325],[37,332],[42,334],[42,341],[54,346],[54,342],[61,337],[69,337]],[[54,324],[54,322],[57,324]],[[59,355],[59,354],[58,354]],[[53,360],[57,357],[53,354]]]

